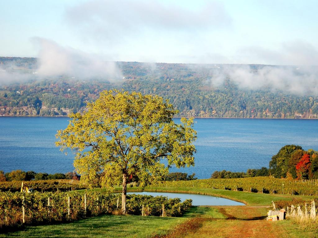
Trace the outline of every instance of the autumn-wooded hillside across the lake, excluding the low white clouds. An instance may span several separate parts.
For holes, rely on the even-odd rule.
[[[248,67],[257,72],[279,66],[116,64],[121,74],[118,78],[41,77],[36,72],[36,58],[0,57],[0,115],[59,116],[82,112],[86,102],[96,100],[106,89],[162,96],[180,111],[177,116],[185,117],[317,118],[318,115],[315,95],[274,92],[270,86],[252,90],[226,73],[234,67]]]

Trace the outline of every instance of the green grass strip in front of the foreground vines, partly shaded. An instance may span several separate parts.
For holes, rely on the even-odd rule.
[[[155,216],[101,215],[71,223],[27,226],[0,237],[152,237],[166,234],[186,218]]]

